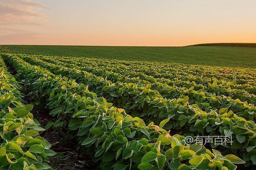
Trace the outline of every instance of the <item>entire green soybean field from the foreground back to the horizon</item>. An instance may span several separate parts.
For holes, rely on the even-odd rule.
[[[256,168],[256,48],[0,48],[1,170]]]

